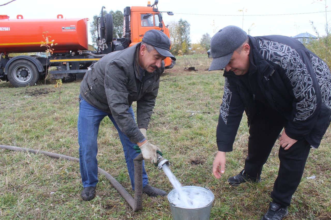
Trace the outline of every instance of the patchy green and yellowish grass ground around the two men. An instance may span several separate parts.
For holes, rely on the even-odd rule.
[[[260,184],[230,187],[247,155],[248,128],[244,116],[234,151],[227,154],[225,174],[212,175],[217,152],[215,129],[223,94],[222,71],[208,72],[207,55],[177,57],[161,77],[160,90],[147,131],[164,152],[170,169],[183,186],[208,187],[214,193],[211,219],[260,219],[268,208],[278,171],[278,147],[263,167]],[[198,71],[187,71],[195,66]],[[77,115],[79,83],[14,88],[0,82],[0,144],[27,147],[78,157]],[[40,94],[39,94],[40,93]],[[210,112],[188,117],[185,111]],[[105,118],[99,131],[99,166],[133,195],[116,129]],[[276,143],[278,146],[278,143]],[[331,130],[318,150],[311,150],[303,179],[286,219],[331,219]],[[133,212],[104,175],[97,197],[82,201],[79,164],[32,153],[0,149],[1,219],[172,219],[167,198],[143,196],[143,211]],[[167,192],[172,186],[163,171],[146,164],[153,186]],[[306,177],[315,175],[316,179]]]

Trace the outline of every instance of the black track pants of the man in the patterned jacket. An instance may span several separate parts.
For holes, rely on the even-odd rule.
[[[261,174],[285,124],[284,117],[267,107],[254,117],[249,129],[248,156],[245,160],[245,172],[248,175],[255,177]],[[288,150],[279,147],[279,171],[271,192],[273,202],[281,206],[290,205],[292,195],[301,181],[309,150],[310,145],[304,139],[297,141]]]

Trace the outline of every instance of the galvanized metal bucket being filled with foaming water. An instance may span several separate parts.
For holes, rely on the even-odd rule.
[[[190,200],[189,203],[192,204],[192,208],[180,207],[182,204],[178,198],[177,190],[171,190],[168,194],[168,201],[173,220],[209,220],[214,201],[212,191],[199,186],[182,186],[181,189]]]

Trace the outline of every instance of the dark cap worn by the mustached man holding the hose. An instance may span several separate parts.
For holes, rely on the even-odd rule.
[[[142,42],[152,45],[159,54],[176,60],[176,57],[170,53],[170,39],[162,31],[156,29],[146,31]]]

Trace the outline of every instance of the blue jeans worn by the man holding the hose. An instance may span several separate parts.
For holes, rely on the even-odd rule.
[[[130,106],[128,112],[135,119],[133,109]],[[133,149],[136,145],[118,128],[113,116],[90,105],[79,95],[79,114],[78,114],[78,144],[79,144],[79,165],[83,187],[96,186],[98,183],[98,145],[97,136],[100,122],[108,116],[118,131],[119,139],[123,146],[125,161],[134,190],[134,165],[133,159],[139,154]],[[148,184],[148,177],[143,162],[143,187]]]

